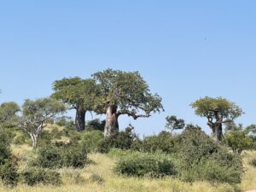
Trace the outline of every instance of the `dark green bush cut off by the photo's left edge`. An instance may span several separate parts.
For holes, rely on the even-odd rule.
[[[0,179],[4,184],[15,185],[18,182],[17,159],[11,154],[10,139],[0,131]]]

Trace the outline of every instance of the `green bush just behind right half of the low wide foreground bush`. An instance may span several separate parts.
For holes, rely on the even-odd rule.
[[[143,152],[162,151],[170,154],[174,152],[174,137],[171,133],[162,131],[158,136],[145,137],[140,145]]]

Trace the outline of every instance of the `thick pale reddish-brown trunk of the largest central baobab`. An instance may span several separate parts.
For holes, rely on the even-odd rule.
[[[119,115],[117,114],[117,107],[116,106],[108,107],[106,116],[107,117],[106,117],[106,124],[104,127],[104,136],[110,137],[114,133],[119,131],[119,122],[118,122]]]

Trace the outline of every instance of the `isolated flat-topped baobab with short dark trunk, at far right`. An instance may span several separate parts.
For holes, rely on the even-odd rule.
[[[192,102],[190,106],[195,108],[195,114],[207,118],[207,125],[212,130],[212,138],[216,141],[221,141],[223,137],[222,125],[236,119],[243,113],[234,102],[222,97],[206,96]]]

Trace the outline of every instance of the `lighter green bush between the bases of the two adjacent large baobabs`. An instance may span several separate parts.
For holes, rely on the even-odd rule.
[[[87,153],[96,152],[103,139],[102,131],[84,131],[82,135],[82,145]]]

